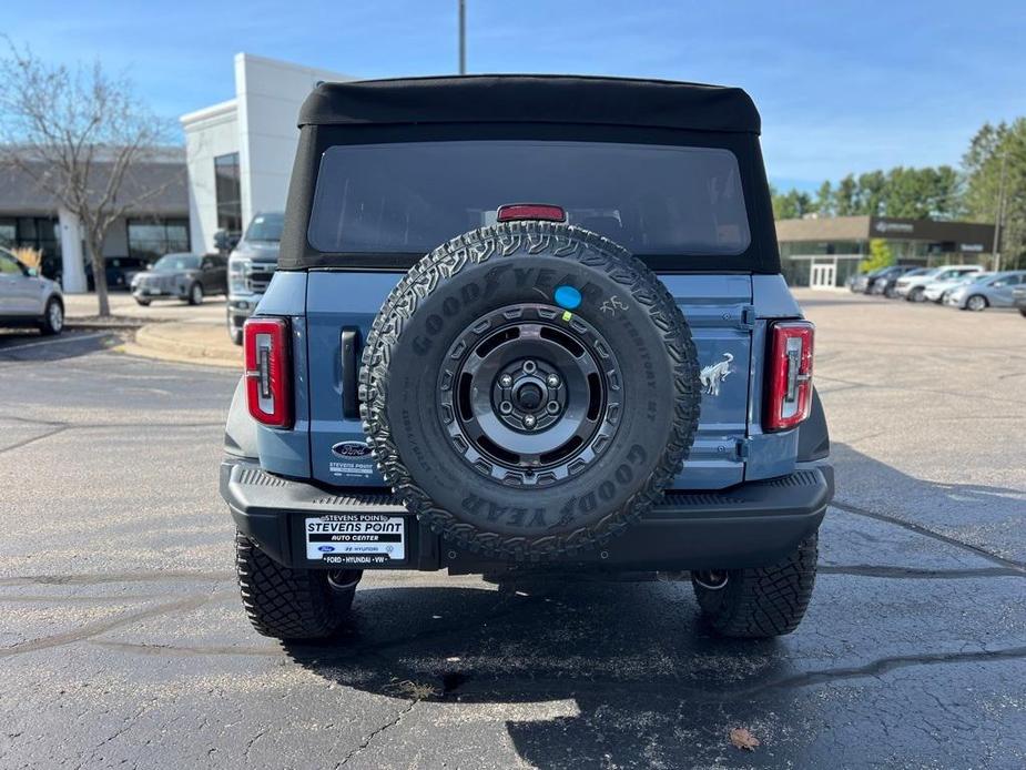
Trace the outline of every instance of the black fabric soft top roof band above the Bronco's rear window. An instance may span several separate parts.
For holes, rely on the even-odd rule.
[[[467,75],[322,83],[299,126],[413,123],[587,123],[759,133],[741,89],[579,75]]]

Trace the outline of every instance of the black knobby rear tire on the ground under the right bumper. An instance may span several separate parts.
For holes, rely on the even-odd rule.
[[[717,634],[759,639],[798,628],[812,598],[816,541],[816,534],[809,536],[770,567],[728,570],[722,588],[708,588],[692,574],[699,606]]]

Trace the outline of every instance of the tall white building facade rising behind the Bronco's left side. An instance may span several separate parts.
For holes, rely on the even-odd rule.
[[[219,230],[241,232],[260,212],[284,211],[299,107],[327,70],[235,54],[235,98],[181,116],[189,170],[192,251],[214,250]]]

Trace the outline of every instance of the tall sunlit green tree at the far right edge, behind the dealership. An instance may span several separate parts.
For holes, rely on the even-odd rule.
[[[965,207],[977,222],[997,217],[1002,162],[1005,164],[1005,215],[1002,225],[1002,266],[1026,265],[1026,118],[1012,123],[985,123],[962,158]]]

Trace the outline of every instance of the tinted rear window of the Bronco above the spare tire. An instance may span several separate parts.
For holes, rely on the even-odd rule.
[[[334,253],[425,253],[550,203],[636,254],[740,254],[751,240],[738,160],[713,148],[488,141],[329,148],[309,243]]]

